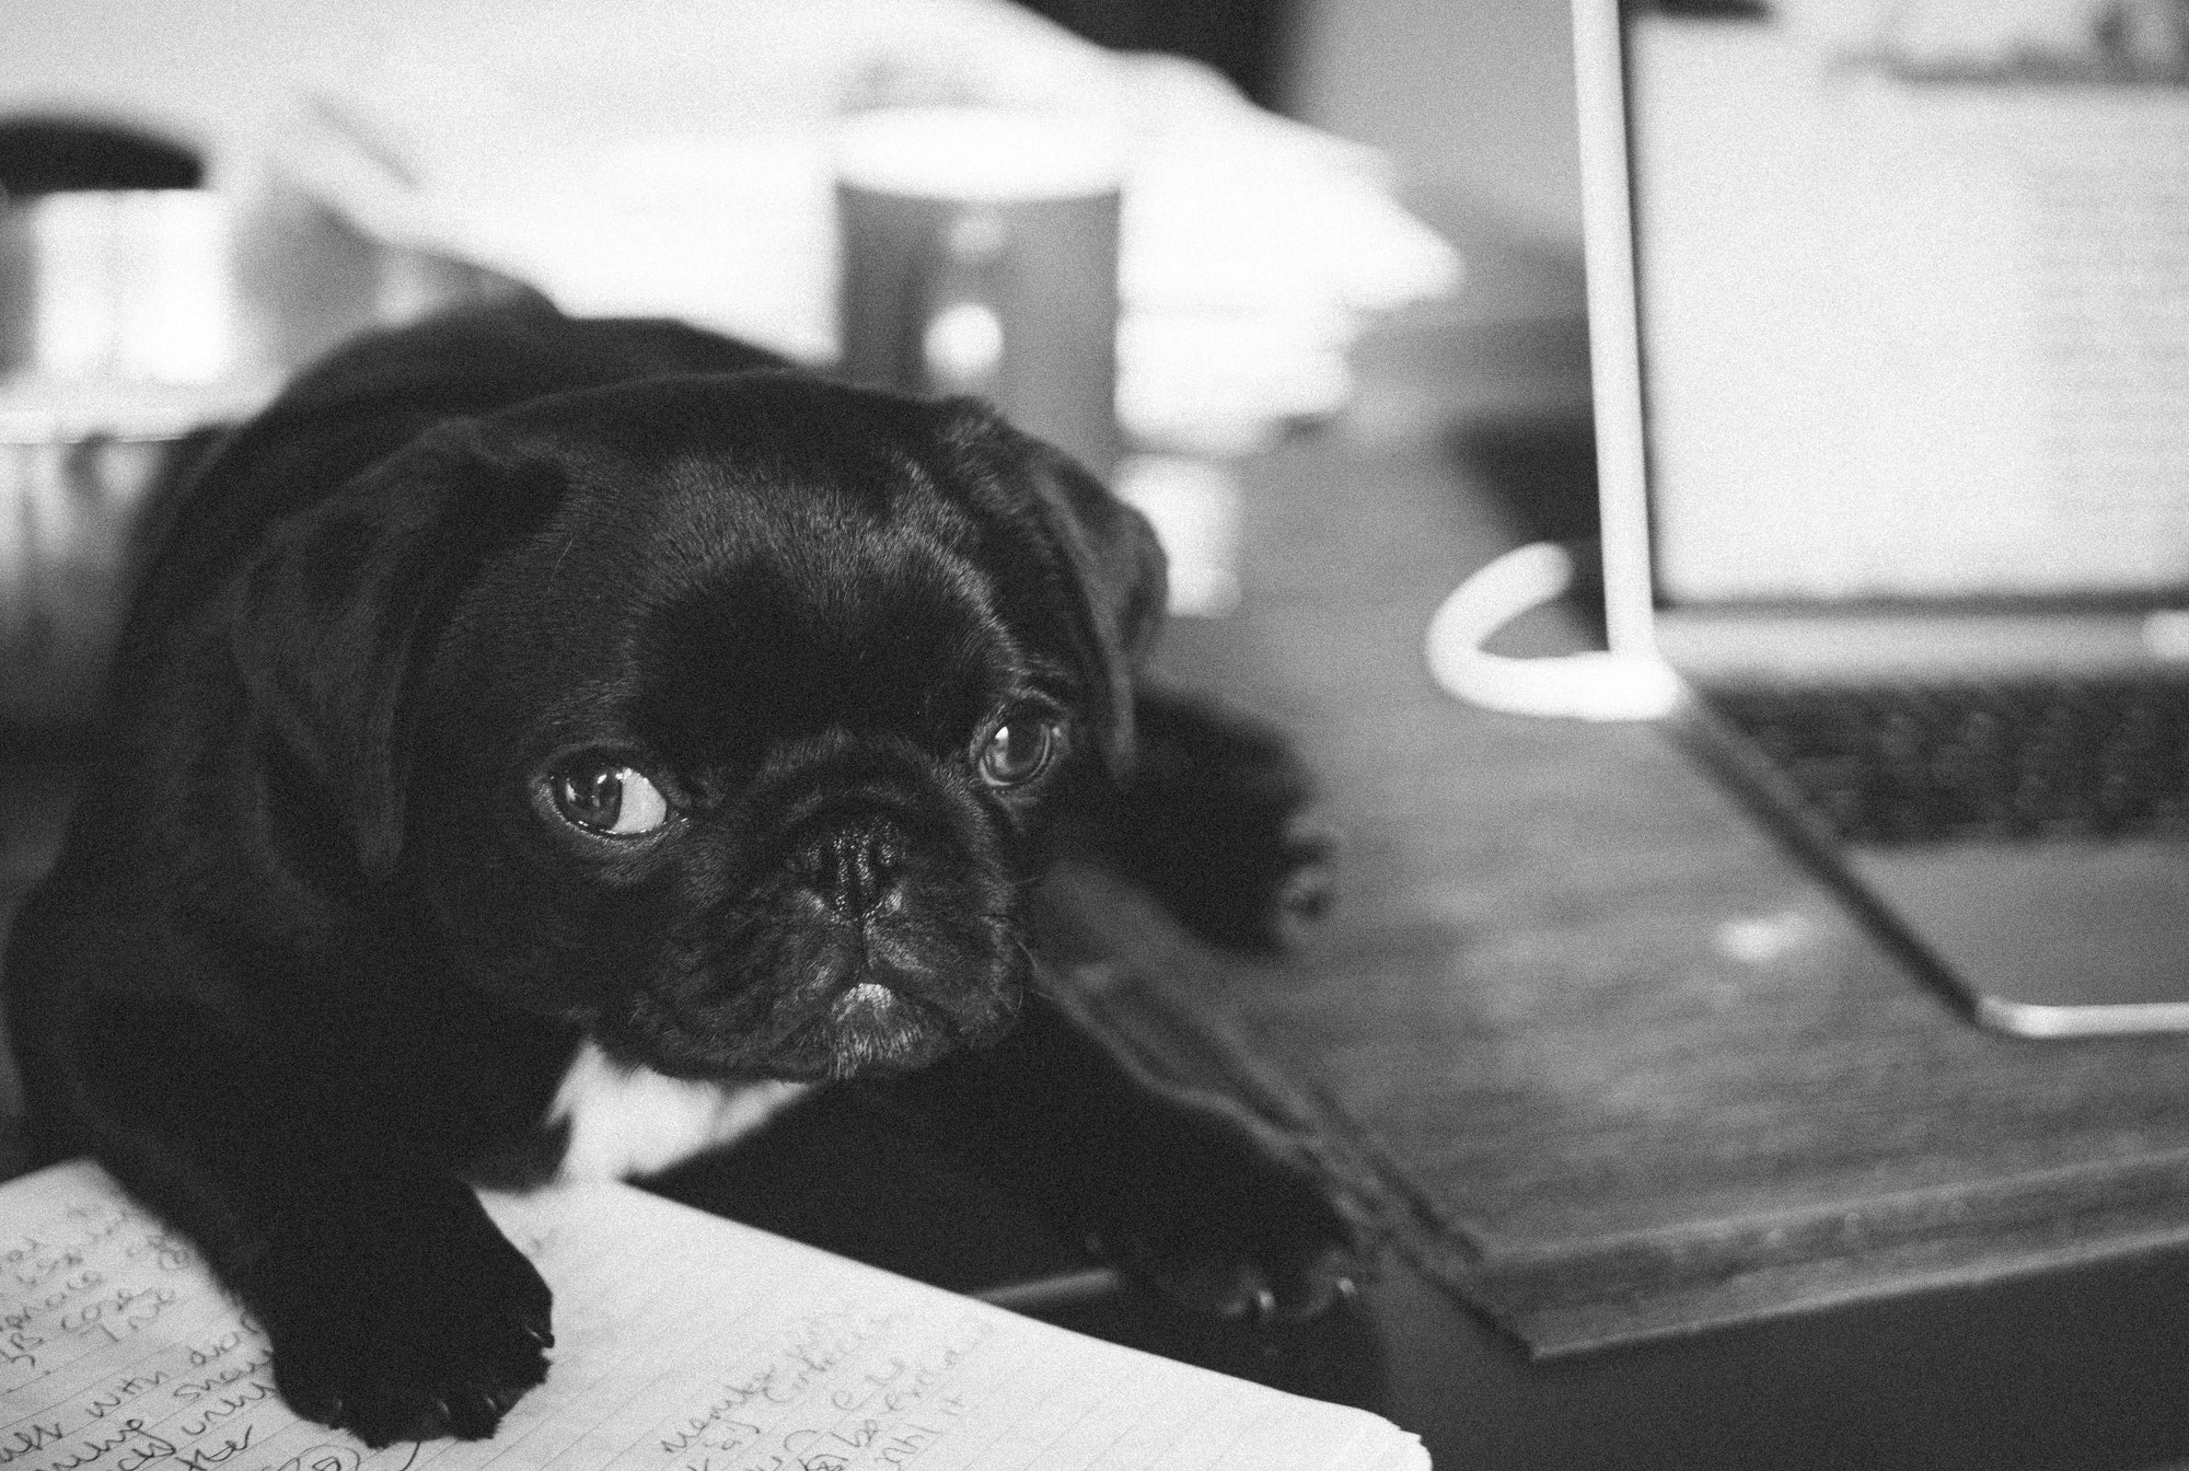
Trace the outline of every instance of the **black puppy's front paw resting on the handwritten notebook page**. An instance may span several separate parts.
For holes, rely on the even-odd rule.
[[[245,1296],[298,1414],[374,1447],[477,1440],[547,1377],[552,1296],[466,1186],[405,1195],[285,1217]]]

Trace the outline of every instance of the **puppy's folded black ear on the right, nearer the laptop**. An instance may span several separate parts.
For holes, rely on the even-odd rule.
[[[972,398],[952,398],[943,442],[970,462],[974,482],[1000,486],[1000,510],[1029,514],[1059,560],[1053,595],[1073,609],[1073,639],[1097,672],[1103,762],[1132,766],[1132,685],[1162,628],[1169,565],[1156,528],[1064,451],[1005,425]],[[1055,576],[1062,574],[1062,576]]]

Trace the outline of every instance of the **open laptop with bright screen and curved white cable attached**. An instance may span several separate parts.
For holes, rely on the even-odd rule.
[[[1957,11],[1576,0],[1609,652],[1482,652],[1530,547],[1432,665],[1668,718],[1981,1024],[2180,1031],[2189,55]]]

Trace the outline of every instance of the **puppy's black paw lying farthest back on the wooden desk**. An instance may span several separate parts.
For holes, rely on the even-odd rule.
[[[1278,950],[1329,904],[1331,836],[1274,729],[1167,690],[1134,696],[1138,757],[1097,823],[1097,856],[1197,935]]]

